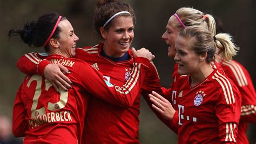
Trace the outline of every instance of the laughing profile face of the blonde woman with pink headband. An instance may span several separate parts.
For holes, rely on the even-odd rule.
[[[170,47],[168,47],[168,56],[170,58],[173,58],[176,54],[175,51],[175,40],[178,36],[178,33],[180,32],[180,30],[176,27],[174,27],[174,23],[176,23],[173,20],[174,16],[171,16],[167,25],[166,25],[166,31],[164,32],[162,39],[165,40],[166,44],[170,45]]]

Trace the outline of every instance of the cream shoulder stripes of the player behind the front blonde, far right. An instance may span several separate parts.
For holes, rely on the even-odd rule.
[[[248,85],[245,73],[242,71],[240,65],[238,65],[234,61],[223,61],[223,64],[231,68],[232,72],[234,73],[235,79],[237,79],[240,87]]]

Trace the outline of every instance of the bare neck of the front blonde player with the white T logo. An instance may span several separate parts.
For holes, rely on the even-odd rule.
[[[191,77],[191,87],[194,87],[204,81],[211,73],[213,68],[209,63],[205,63],[198,68],[198,71],[194,74],[190,74]]]

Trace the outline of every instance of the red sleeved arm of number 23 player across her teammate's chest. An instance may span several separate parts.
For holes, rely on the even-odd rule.
[[[87,64],[87,67],[81,67],[80,83],[95,97],[120,107],[131,107],[138,96],[149,63],[149,59],[137,57],[133,63],[131,77],[122,87],[104,80],[102,73]]]

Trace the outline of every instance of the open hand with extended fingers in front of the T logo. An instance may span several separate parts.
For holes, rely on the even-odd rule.
[[[156,92],[149,94],[150,100],[153,102],[152,107],[159,112],[164,119],[171,121],[175,113],[175,109],[171,103]]]

